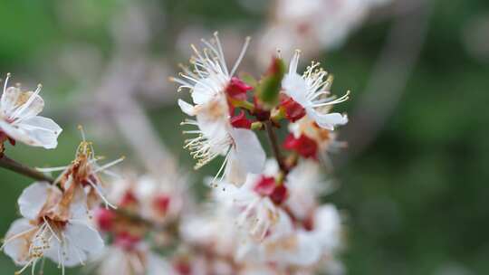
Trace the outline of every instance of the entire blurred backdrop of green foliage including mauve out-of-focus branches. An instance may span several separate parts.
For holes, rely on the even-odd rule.
[[[54,151],[18,145],[8,155],[64,165],[82,124],[100,154],[126,155],[140,171],[168,152],[191,169],[168,76],[187,61],[189,43],[215,30],[235,56],[272,9],[270,0],[0,1],[1,75],[25,87],[42,82],[44,114],[64,128]],[[257,44],[243,64],[254,75]],[[336,93],[352,91],[339,107],[350,113],[340,135],[350,147],[332,157],[340,185],[324,198],[348,217],[348,273],[487,274],[489,2],[392,0],[340,46],[312,55],[334,73]],[[215,170],[194,174],[197,195]],[[0,170],[0,182],[6,232],[30,180]],[[16,270],[3,254],[0,270]],[[45,274],[54,272],[48,264]],[[91,273],[67,273],[80,272]]]

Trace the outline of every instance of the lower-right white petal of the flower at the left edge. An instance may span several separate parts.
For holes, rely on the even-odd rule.
[[[32,137],[40,147],[53,149],[58,146],[58,137],[62,128],[53,119],[43,117],[24,119],[18,124],[18,127],[23,128],[27,135]]]

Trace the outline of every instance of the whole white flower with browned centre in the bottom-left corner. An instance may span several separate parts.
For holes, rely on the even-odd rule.
[[[6,233],[5,253],[24,267],[47,257],[65,267],[83,264],[103,248],[99,232],[91,228],[84,197],[65,196],[53,185],[34,183],[19,197],[23,218]]]

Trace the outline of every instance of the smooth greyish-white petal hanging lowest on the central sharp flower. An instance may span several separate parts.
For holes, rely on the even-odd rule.
[[[236,161],[248,173],[260,174],[264,169],[266,155],[258,137],[252,130],[235,128],[231,132],[235,140]]]

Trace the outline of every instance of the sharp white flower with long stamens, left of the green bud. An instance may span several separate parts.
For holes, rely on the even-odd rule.
[[[241,184],[245,181],[246,173],[260,173],[265,160],[264,149],[254,132],[232,127],[225,94],[225,89],[245,54],[249,39],[246,40],[231,71],[228,71],[225,64],[217,34],[214,40],[203,42],[207,46],[203,52],[192,46],[196,53],[191,60],[194,71],[184,69],[184,73],[180,74],[182,79],[172,79],[181,85],[178,90],[190,90],[194,103],[192,105],[178,100],[178,105],[184,113],[196,117],[182,122],[184,125],[197,127],[195,130],[184,132],[197,135],[187,139],[185,147],[197,158],[196,168],[206,165],[216,156],[225,156],[223,166],[216,177],[229,162],[234,168],[225,169],[225,175],[229,175],[235,184]]]

